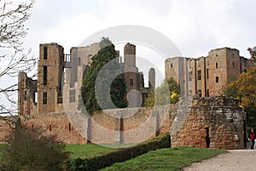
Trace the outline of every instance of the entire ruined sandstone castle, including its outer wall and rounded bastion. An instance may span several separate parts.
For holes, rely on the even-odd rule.
[[[56,43],[40,44],[38,80],[26,77],[25,72],[20,72],[19,76],[19,112],[20,115],[32,116],[23,122],[26,126],[37,124],[48,128],[46,134],[56,134],[68,144],[91,141],[139,143],[145,135],[149,134],[146,137],[149,138],[170,132],[172,146],[244,148],[246,113],[237,100],[215,96],[222,94],[230,79],[238,77],[247,68],[255,67],[253,61],[241,57],[237,49],[218,48],[211,50],[207,57],[197,59],[167,59],[166,78],[177,80],[183,98],[178,104],[167,108],[156,106],[154,109],[138,106],[148,88],[144,88],[143,73],[136,66],[136,47],[127,43],[122,63],[125,82],[128,91],[136,89],[141,96],[133,94],[131,108],[121,112],[124,115],[136,112],[131,117],[111,117],[105,111],[100,111],[101,115],[84,117],[77,109],[79,88],[86,66],[90,66],[91,57],[98,50],[99,44],[95,43],[88,47],[71,48],[69,55],[64,54],[63,48]],[[119,52],[117,60],[121,61]],[[148,71],[148,78],[148,87],[155,88],[153,68]],[[117,113],[119,110],[109,109],[108,112]],[[111,130],[110,134],[97,125]]]

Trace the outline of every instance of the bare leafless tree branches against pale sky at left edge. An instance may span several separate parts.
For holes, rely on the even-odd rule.
[[[32,71],[36,59],[22,47],[23,38],[28,29],[25,26],[29,20],[30,3],[13,3],[0,0],[0,119],[9,122],[10,117],[17,115],[17,100],[14,94],[18,90],[17,76],[20,71]],[[6,83],[16,77],[15,83]],[[13,121],[13,118],[10,120]]]

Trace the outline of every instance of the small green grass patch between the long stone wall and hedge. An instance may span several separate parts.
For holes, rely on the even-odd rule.
[[[71,158],[78,158],[78,157],[93,157],[102,154],[106,154],[110,151],[114,151],[113,148],[108,148],[102,145],[66,145],[66,151],[70,151]]]

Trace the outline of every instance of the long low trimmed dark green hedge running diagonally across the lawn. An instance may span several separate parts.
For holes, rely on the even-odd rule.
[[[160,135],[152,140],[147,140],[136,146],[119,149],[102,156],[77,158],[69,164],[72,171],[96,171],[111,166],[114,162],[124,162],[133,157],[138,157],[148,151],[155,151],[160,148],[168,148],[171,145],[170,134]]]

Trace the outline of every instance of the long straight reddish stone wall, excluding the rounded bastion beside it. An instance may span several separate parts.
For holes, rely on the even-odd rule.
[[[48,113],[30,116],[21,123],[45,129],[67,144],[137,144],[165,134],[171,128],[174,105],[99,111],[88,116],[78,113]]]

